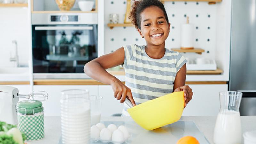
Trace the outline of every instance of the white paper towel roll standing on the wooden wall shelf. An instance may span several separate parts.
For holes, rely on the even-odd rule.
[[[181,49],[193,49],[193,25],[183,24],[181,27]]]

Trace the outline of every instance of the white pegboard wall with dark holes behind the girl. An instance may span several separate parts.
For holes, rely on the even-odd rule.
[[[196,53],[184,53],[185,57],[214,58],[216,54],[216,25],[217,6],[208,5],[208,2],[165,2],[164,6],[171,23],[170,33],[166,40],[166,48],[180,48],[181,25],[186,23],[186,16],[194,26],[194,47],[205,50],[202,55]],[[119,23],[124,22],[126,12],[126,0],[105,0],[105,54],[115,51],[123,45],[145,45],[134,27],[107,27],[109,14],[119,14]]]

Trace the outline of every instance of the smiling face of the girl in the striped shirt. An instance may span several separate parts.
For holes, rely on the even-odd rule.
[[[138,29],[141,36],[144,36],[147,44],[161,45],[165,43],[169,32],[170,23],[167,23],[164,12],[156,6],[146,8],[140,14],[141,29]]]

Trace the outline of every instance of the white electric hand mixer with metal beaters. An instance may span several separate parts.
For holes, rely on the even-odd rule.
[[[15,87],[0,86],[0,121],[17,124],[16,104],[19,102],[19,98],[45,101],[48,99],[48,93],[33,91],[33,93],[24,95],[19,94],[19,90]]]

